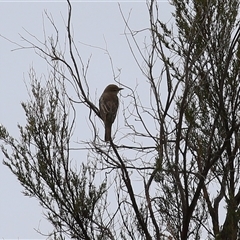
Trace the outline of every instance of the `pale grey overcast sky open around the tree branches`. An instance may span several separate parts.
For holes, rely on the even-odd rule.
[[[167,20],[168,2],[159,1],[159,6],[163,19]],[[113,82],[109,57],[101,49],[108,49],[114,70],[121,69],[119,80],[123,84],[130,87],[139,84],[139,91],[145,91],[141,88],[143,76],[123,34],[125,25],[120,8],[126,17],[130,14],[132,29],[148,27],[145,1],[72,1],[74,40],[85,62],[91,56],[88,79],[96,102],[103,88]],[[28,32],[43,40],[43,29],[51,35],[44,13],[47,12],[52,15],[62,36],[60,43],[64,45],[67,10],[65,1],[0,1],[0,124],[16,138],[17,124],[23,125],[25,121],[20,103],[28,100],[29,69],[34,67],[41,76],[46,74],[47,64],[33,50],[19,49],[14,42],[26,46],[21,36],[32,39]],[[146,31],[139,34],[141,44],[145,36]],[[91,137],[87,131],[82,134],[86,139]],[[1,162],[3,158],[0,152]],[[16,177],[0,163],[0,239],[46,239],[38,231],[47,234],[52,227],[38,201],[25,197],[22,191]]]

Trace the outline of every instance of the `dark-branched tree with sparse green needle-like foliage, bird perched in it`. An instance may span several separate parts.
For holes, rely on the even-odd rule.
[[[32,71],[32,98],[22,104],[27,124],[19,126],[20,140],[1,126],[7,146],[2,145],[4,164],[18,177],[25,194],[36,197],[47,210],[56,238],[239,238],[239,3],[171,4],[174,27],[160,20],[157,2],[147,2],[150,37],[144,50],[137,42],[138,32],[123,15],[126,39],[131,50],[132,44],[137,46],[142,58],[134,51],[133,57],[150,89],[148,103],[130,89],[131,102],[123,111],[125,138],[132,140],[128,144],[119,140],[106,145],[98,136],[99,110],[89,96],[88,65],[77,64],[80,54],[71,33],[70,2],[66,28],[70,60],[59,50],[57,37],[45,41],[44,47],[25,39],[52,72],[43,86]],[[69,83],[78,103],[68,95]],[[85,145],[93,161],[80,168],[70,160],[75,104],[89,110],[94,133]],[[97,184],[99,174],[106,178]],[[140,190],[135,184],[139,179]],[[111,212],[108,192],[114,187],[117,207]]]

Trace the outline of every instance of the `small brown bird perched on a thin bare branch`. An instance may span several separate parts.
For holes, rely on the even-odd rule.
[[[99,98],[99,113],[105,126],[105,142],[111,140],[112,124],[116,118],[119,100],[117,94],[123,88],[115,84],[108,85]]]

